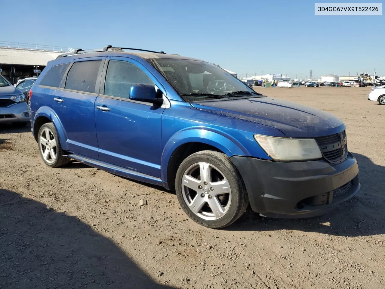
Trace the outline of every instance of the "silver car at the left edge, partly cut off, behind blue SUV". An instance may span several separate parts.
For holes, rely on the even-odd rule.
[[[0,75],[0,124],[25,126],[29,122],[30,113],[25,95]]]

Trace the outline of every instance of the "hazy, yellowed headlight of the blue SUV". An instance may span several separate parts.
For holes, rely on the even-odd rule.
[[[254,134],[254,139],[275,161],[301,161],[322,158],[315,139],[276,138]]]

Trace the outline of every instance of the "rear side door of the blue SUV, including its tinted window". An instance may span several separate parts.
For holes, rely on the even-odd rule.
[[[53,109],[67,134],[70,151],[98,159],[94,103],[105,57],[77,59],[54,93]]]

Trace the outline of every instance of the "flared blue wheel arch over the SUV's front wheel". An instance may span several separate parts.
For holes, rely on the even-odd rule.
[[[167,166],[172,153],[182,144],[205,143],[218,148],[226,155],[250,155],[248,150],[232,136],[207,127],[192,127],[175,133],[164,146],[161,160],[161,178],[167,183]]]

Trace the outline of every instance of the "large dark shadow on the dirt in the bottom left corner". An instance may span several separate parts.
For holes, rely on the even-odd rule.
[[[171,288],[78,218],[0,189],[1,288]]]

